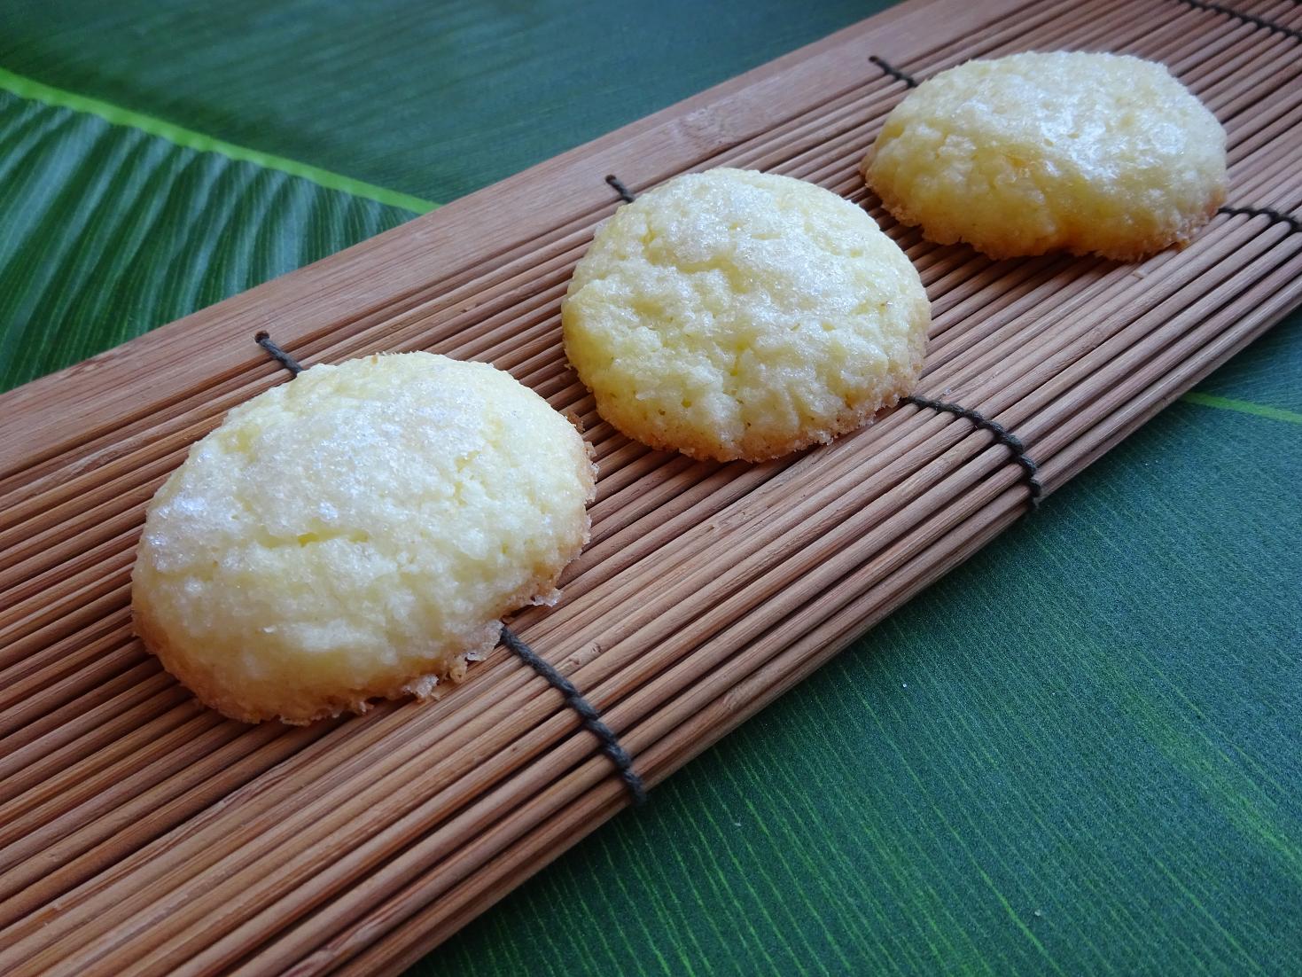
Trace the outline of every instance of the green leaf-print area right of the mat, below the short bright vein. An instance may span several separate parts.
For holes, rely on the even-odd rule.
[[[1299,457],[1172,408],[413,973],[1297,973]]]

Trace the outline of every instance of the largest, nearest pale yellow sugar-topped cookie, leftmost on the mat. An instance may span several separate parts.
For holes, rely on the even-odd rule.
[[[246,722],[428,696],[504,614],[559,597],[594,477],[573,425],[492,366],[314,366],[234,408],[154,496],[137,632]]]

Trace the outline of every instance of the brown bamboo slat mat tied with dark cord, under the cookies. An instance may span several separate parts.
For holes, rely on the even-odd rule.
[[[746,165],[863,201],[922,271],[921,392],[1026,440],[1047,491],[1294,306],[1302,8],[909,3],[349,251],[0,397],[0,969],[391,972],[625,802],[555,693],[495,653],[432,706],[306,729],[198,707],[130,637],[143,505],[221,413],[305,362],[434,349],[583,416],[594,539],[513,627],[650,783],[1012,522],[1019,470],[901,408],[794,461],[702,465],[599,422],[557,302],[617,198]],[[1262,26],[1260,21],[1268,26]],[[990,262],[896,228],[855,165],[914,77],[1019,50],[1165,61],[1230,134],[1230,199],[1142,264]],[[1052,502],[1049,503],[1052,504]]]

